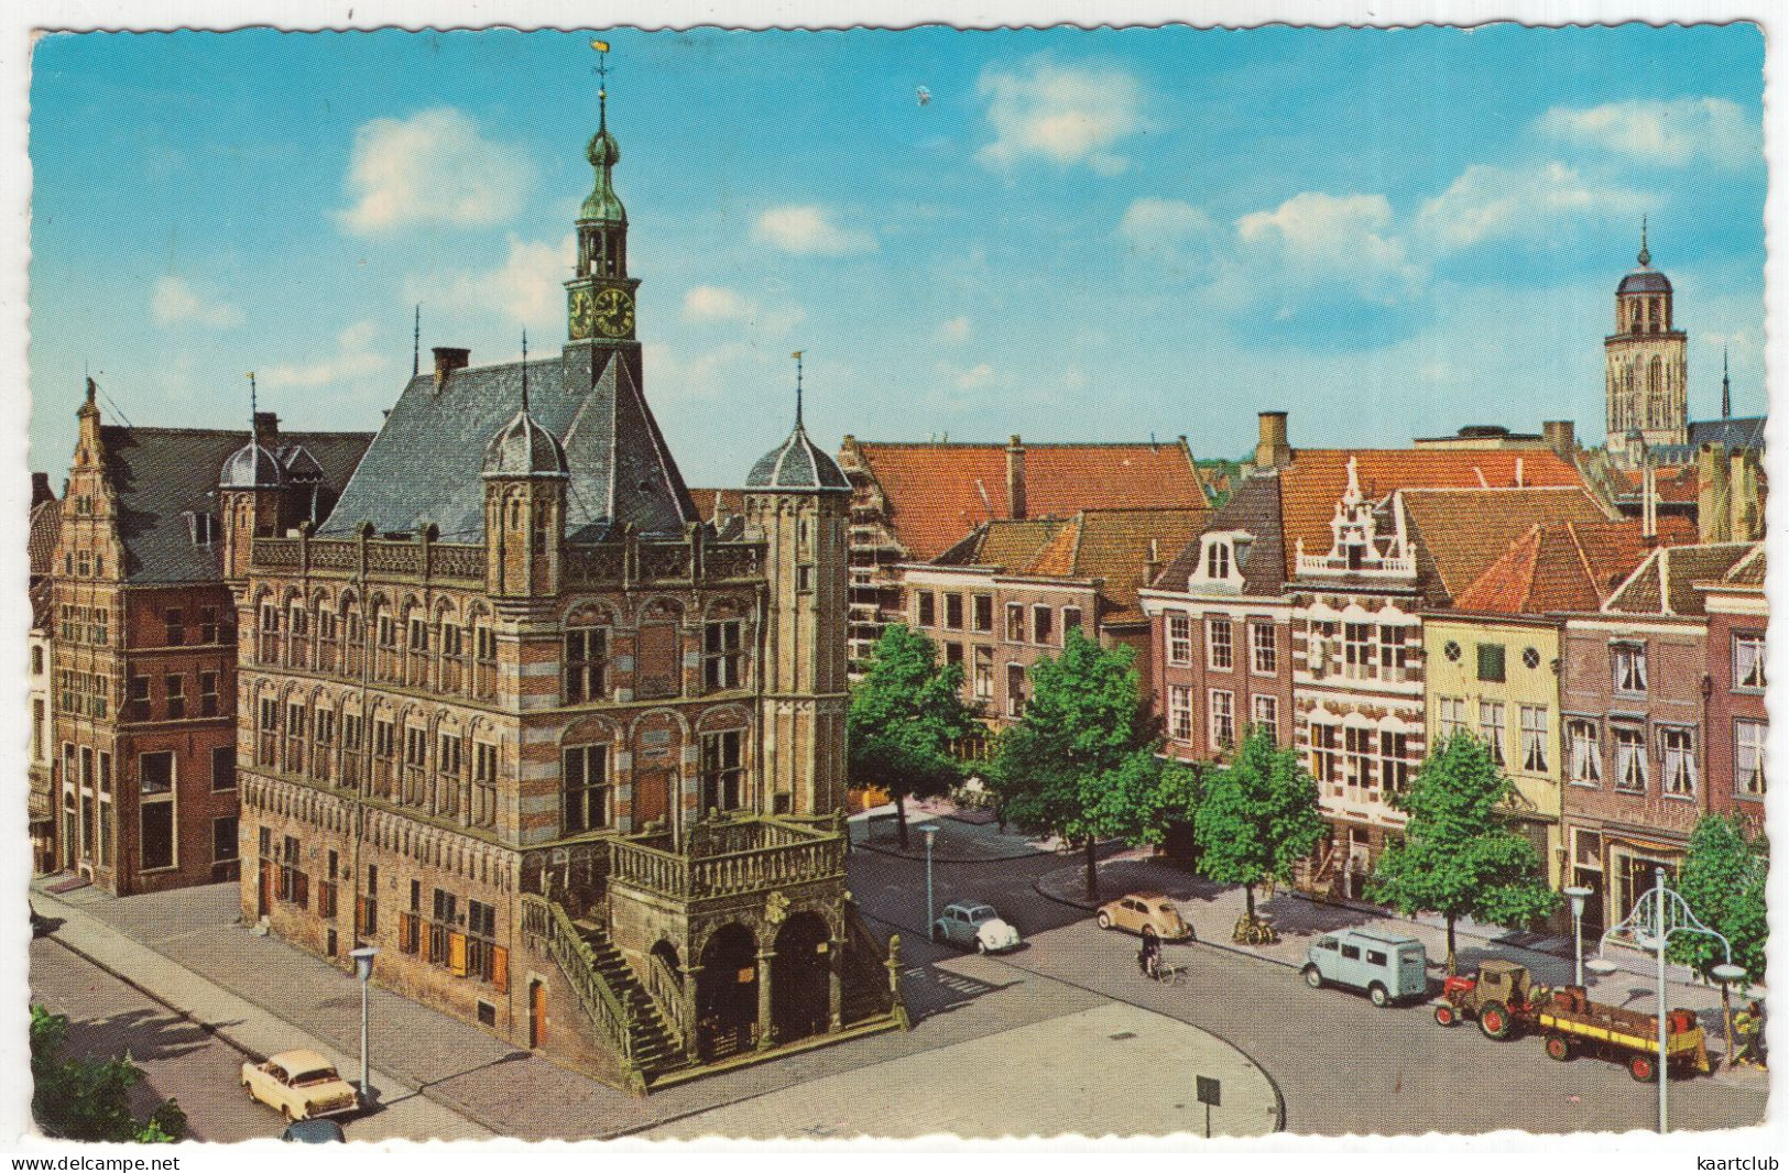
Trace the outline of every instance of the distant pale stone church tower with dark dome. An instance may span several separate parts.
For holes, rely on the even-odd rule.
[[[1635,465],[1646,449],[1689,443],[1689,358],[1671,318],[1671,281],[1641,256],[1615,290],[1615,333],[1603,340],[1608,452]]]

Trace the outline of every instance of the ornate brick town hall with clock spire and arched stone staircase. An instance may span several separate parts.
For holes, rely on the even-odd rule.
[[[844,889],[850,490],[796,411],[701,522],[606,118],[569,342],[438,349],[329,524],[225,494],[249,919],[635,1091],[902,1019]],[[483,452],[483,458],[479,458]]]

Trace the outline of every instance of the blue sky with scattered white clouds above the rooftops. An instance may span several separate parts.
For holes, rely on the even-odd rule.
[[[1764,38],[603,32],[648,399],[685,481],[864,440],[1603,435],[1635,263],[1691,417],[1764,411]],[[555,350],[590,34],[79,34],[30,88],[30,463],[107,418],[376,429],[411,363]]]

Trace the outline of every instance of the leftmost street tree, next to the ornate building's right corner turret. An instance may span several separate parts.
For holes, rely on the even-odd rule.
[[[961,781],[962,767],[950,749],[973,730],[975,717],[962,705],[962,665],[939,665],[932,640],[905,624],[884,629],[869,671],[852,690],[844,731],[852,780],[894,796],[902,849],[907,797],[937,797]]]

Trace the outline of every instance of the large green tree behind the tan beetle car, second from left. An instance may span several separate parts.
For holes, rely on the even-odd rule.
[[[1025,715],[1000,735],[988,771],[1013,823],[1086,849],[1088,899],[1100,839],[1157,833],[1147,814],[1161,762],[1134,660],[1070,629],[1063,654],[1032,665]]]

